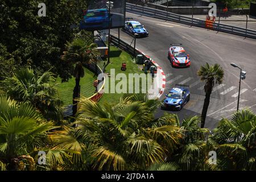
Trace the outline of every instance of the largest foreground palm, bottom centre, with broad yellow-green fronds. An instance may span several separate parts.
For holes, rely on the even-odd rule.
[[[58,131],[52,139],[57,141],[56,148],[79,152],[73,155],[73,160],[79,161],[80,167],[146,169],[153,163],[163,162],[181,138],[180,129],[172,126],[171,119],[154,119],[149,105],[154,104],[143,94],[121,99],[117,105],[105,103],[103,106],[82,98],[75,122],[77,127]]]

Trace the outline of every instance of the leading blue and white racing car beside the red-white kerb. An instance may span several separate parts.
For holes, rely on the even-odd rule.
[[[190,99],[190,92],[185,86],[187,85],[177,84],[175,88],[172,88],[170,92],[166,94],[161,109],[181,110]]]

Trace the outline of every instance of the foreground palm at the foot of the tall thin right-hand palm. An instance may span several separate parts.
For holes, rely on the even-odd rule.
[[[207,164],[208,148],[206,139],[209,135],[208,129],[201,129],[200,117],[194,116],[184,119],[181,125],[177,115],[170,115],[175,123],[183,131],[180,145],[168,161],[175,163],[181,170],[204,170],[209,169]]]

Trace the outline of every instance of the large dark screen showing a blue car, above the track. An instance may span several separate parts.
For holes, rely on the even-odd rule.
[[[110,13],[109,13],[110,4]],[[92,0],[84,11],[80,29],[87,31],[125,26],[125,0]]]

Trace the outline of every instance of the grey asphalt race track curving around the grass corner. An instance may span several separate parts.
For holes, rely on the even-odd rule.
[[[247,72],[246,80],[241,82],[240,109],[249,107],[256,113],[256,41],[254,39],[244,39],[241,36],[217,33],[204,28],[190,27],[131,13],[126,13],[126,17],[138,20],[149,31],[147,38],[137,39],[136,47],[162,67],[167,76],[167,88],[164,94],[167,94],[175,84],[182,83],[191,86],[191,100],[183,110],[175,112],[159,109],[155,113],[156,117],[160,117],[164,112],[176,113],[180,119],[201,114],[205,98],[204,82],[200,82],[197,71],[200,65],[205,65],[205,63],[221,64],[225,71],[223,85],[214,86],[205,127],[213,129],[222,117],[230,118],[236,111],[240,70],[232,67],[231,62],[241,65]],[[133,37],[126,32],[120,32],[121,39],[130,44]],[[112,30],[111,33],[118,35],[117,30]],[[170,43],[183,44],[191,57],[190,68],[171,67],[167,59]],[[164,94],[161,99],[164,98]]]

